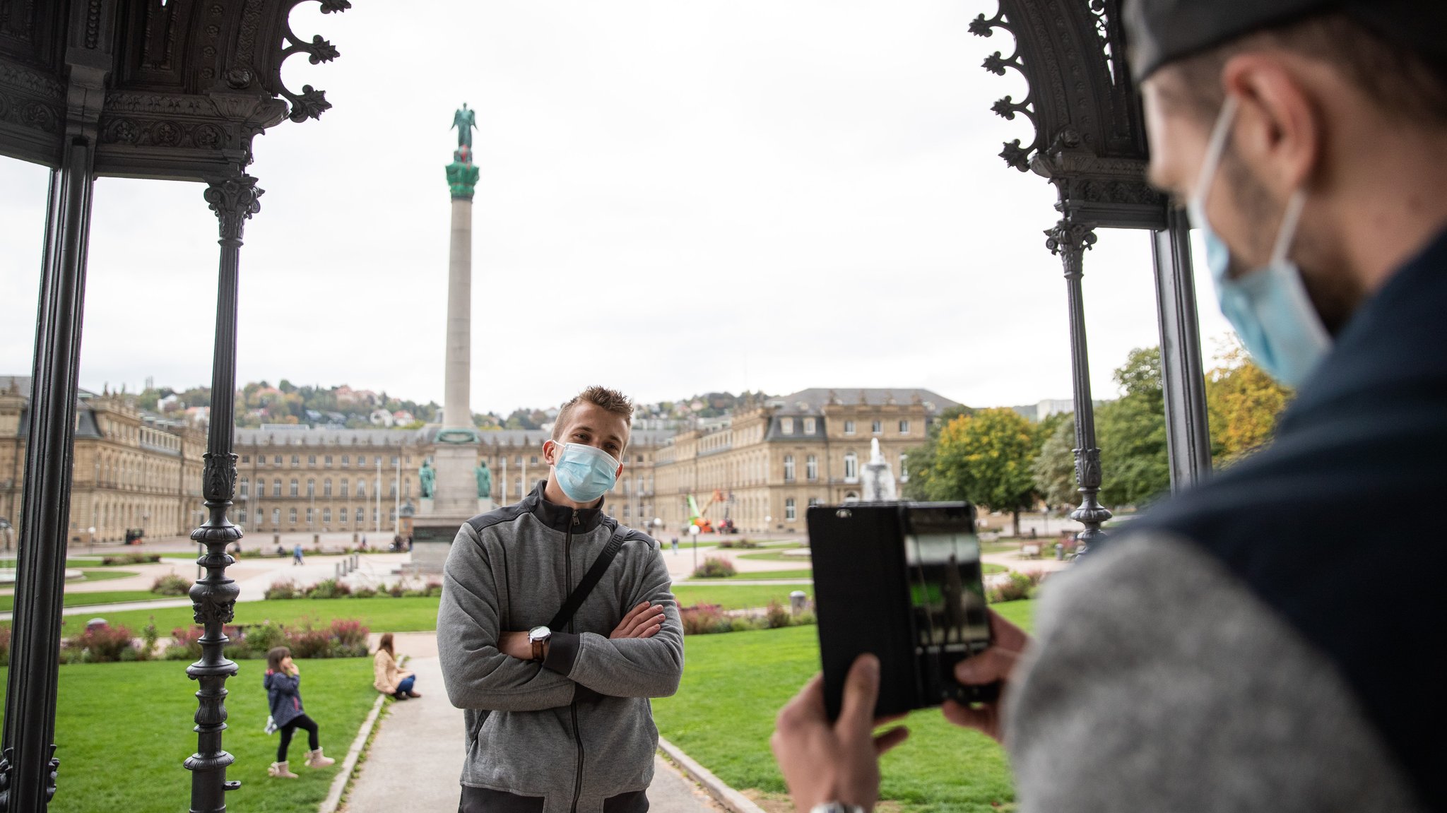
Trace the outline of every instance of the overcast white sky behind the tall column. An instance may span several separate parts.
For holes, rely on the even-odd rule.
[[[987,9],[987,6],[990,9]],[[256,140],[239,379],[443,399],[453,108],[478,110],[475,411],[603,382],[1071,392],[1051,187],[1007,168],[1023,81],[988,1],[302,4],[292,87],[334,107]],[[29,373],[48,174],[0,159],[0,373]],[[81,383],[210,382],[216,221],[195,184],[97,182]],[[1201,276],[1198,273],[1198,276]],[[1229,327],[1208,288],[1210,349]],[[1158,341],[1149,237],[1087,256],[1092,379]]]

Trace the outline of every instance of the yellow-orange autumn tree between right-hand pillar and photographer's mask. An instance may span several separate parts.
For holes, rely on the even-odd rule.
[[[1205,408],[1217,466],[1236,460],[1270,443],[1276,418],[1294,392],[1276,383],[1257,367],[1240,347],[1217,357],[1217,367],[1205,378]]]

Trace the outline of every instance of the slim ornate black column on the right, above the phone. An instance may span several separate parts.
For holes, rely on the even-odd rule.
[[[1059,255],[1065,265],[1065,292],[1071,314],[1071,376],[1075,396],[1075,482],[1079,485],[1081,503],[1071,512],[1071,519],[1085,525],[1075,535],[1079,553],[1106,538],[1101,522],[1110,519],[1097,495],[1100,493],[1100,448],[1095,447],[1095,402],[1090,392],[1090,353],[1085,344],[1085,302],[1081,291],[1084,255],[1095,244],[1095,230],[1084,223],[1062,218],[1055,229],[1045,231],[1045,246],[1052,255]]]

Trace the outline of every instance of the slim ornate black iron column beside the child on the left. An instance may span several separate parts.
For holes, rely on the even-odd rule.
[[[197,564],[205,577],[191,587],[195,622],[205,628],[201,635],[201,660],[187,667],[188,677],[200,684],[195,696],[197,752],[187,761],[191,771],[191,813],[223,813],[226,791],[240,787],[226,780],[226,768],[236,761],[221,749],[226,731],[226,678],[236,674],[236,663],[226,658],[229,638],[224,625],[236,610],[240,589],[226,576],[234,560],[227,545],[242,538],[242,529],[226,516],[236,489],[236,454],[232,451],[236,412],[236,291],[242,259],[242,230],[246,220],[260,211],[256,178],[237,174],[213,181],[205,190],[205,203],[220,221],[221,268],[216,299],[216,353],[211,360],[211,421],[207,434],[205,467],[201,493],[208,518],[191,532],[191,538],[205,545]]]

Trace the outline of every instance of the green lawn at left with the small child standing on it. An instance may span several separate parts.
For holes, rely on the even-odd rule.
[[[300,661],[307,715],[321,728],[321,746],[337,765],[310,770],[302,732],[292,739],[292,772],[300,780],[273,780],[266,765],[276,758],[278,735],[266,736],[266,691],[262,661],[240,661],[226,683],[230,728],[224,748],[236,757],[229,780],[242,787],[226,794],[230,810],[315,810],[327,796],[341,757],[376,700],[372,660]],[[6,670],[0,668],[0,680]],[[61,759],[59,791],[51,813],[110,810],[185,810],[191,775],[181,762],[195,751],[191,731],[195,681],[178,661],[71,664],[61,667],[55,720],[55,755]]]

